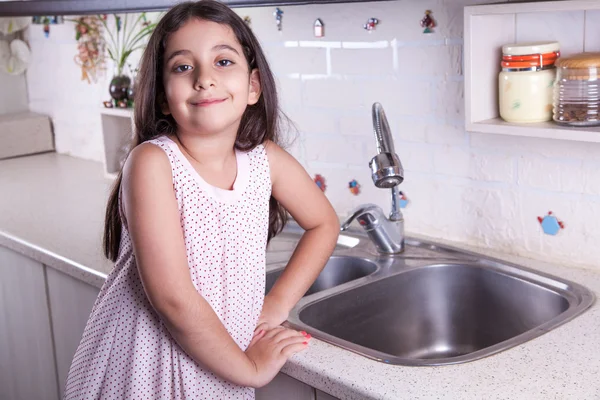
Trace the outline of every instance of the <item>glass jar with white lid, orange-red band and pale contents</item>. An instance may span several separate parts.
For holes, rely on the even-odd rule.
[[[498,77],[500,117],[508,122],[552,120],[554,63],[558,42],[515,43],[502,46]]]

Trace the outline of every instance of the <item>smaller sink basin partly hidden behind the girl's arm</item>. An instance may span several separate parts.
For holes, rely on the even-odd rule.
[[[315,283],[308,289],[305,296],[362,278],[376,270],[377,264],[363,258],[333,256],[325,264],[325,268],[321,271]],[[282,272],[283,268],[267,273],[266,293],[271,290]]]

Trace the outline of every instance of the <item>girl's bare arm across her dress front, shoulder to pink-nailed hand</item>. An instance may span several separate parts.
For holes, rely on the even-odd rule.
[[[192,284],[172,182],[169,160],[157,146],[142,144],[128,157],[122,200],[144,291],[193,359],[234,384],[262,386],[305,339],[289,330],[263,333],[257,348],[239,348]]]

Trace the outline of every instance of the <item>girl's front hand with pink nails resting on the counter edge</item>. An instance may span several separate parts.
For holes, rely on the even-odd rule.
[[[306,349],[309,340],[310,335],[283,327],[260,330],[246,350],[256,369],[252,386],[259,388],[271,382],[291,356]]]

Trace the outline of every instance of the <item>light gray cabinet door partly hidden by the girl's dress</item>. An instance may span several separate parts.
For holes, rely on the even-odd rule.
[[[58,386],[62,395],[73,356],[100,289],[53,268],[48,268],[46,275]]]

